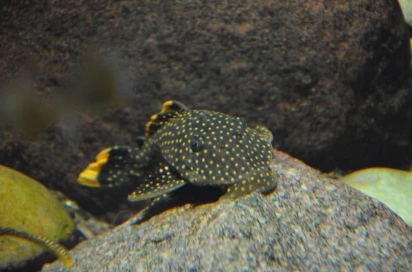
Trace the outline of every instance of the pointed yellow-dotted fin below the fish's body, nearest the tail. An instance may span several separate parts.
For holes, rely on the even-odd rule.
[[[186,184],[186,181],[176,177],[169,166],[160,167],[150,174],[143,184],[128,196],[128,201],[142,201],[169,193]]]

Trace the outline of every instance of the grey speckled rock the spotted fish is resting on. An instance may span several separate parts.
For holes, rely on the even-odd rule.
[[[273,163],[275,192],[102,234],[71,251],[73,271],[411,271],[412,228],[389,208],[284,153]]]

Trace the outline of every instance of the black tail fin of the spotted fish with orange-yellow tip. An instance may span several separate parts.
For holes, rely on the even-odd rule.
[[[125,146],[108,147],[96,156],[96,161],[78,175],[77,182],[84,186],[117,186],[129,181],[129,175],[140,176],[139,166],[133,165],[139,149]]]

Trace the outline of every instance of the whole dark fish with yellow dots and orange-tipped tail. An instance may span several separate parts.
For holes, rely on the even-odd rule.
[[[271,132],[252,129],[244,119],[209,110],[190,110],[178,101],[163,103],[146,125],[137,147],[108,147],[78,176],[86,186],[135,182],[130,201],[165,196],[187,183],[223,186],[225,198],[277,185],[271,170]]]

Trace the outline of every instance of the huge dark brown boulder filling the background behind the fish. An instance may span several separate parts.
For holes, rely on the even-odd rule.
[[[0,134],[1,163],[82,206],[115,207],[76,174],[103,147],[132,144],[167,99],[262,123],[275,147],[323,170],[393,166],[408,150],[409,39],[397,1],[7,1],[0,27],[4,81],[31,53],[34,87],[54,95],[90,47],[128,79],[129,103],[83,116],[74,137],[60,127],[36,143]]]

